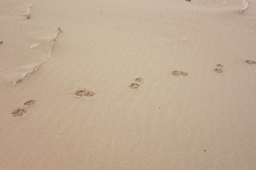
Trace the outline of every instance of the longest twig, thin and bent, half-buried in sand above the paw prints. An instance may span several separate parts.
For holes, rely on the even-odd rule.
[[[46,57],[46,60],[41,62],[41,64],[38,64],[36,67],[33,67],[33,69],[29,70],[28,72],[22,74],[21,77],[14,82],[14,84],[18,84],[22,79],[24,79],[25,77],[28,77],[32,72],[36,71],[36,69],[39,69],[43,65],[43,63],[45,63],[50,58],[51,51],[53,50],[54,42],[57,40],[58,35],[60,35],[61,33],[62,33],[62,30],[58,28],[58,33],[55,35],[53,40],[51,40],[50,50],[48,52],[48,56]]]

